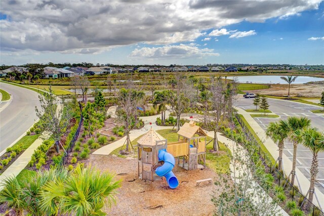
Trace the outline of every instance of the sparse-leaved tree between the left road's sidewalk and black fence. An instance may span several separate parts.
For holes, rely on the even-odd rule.
[[[41,109],[35,106],[36,116],[42,122],[40,125],[44,131],[50,133],[51,138],[55,141],[56,151],[59,152],[59,140],[63,135],[64,129],[69,124],[70,112],[64,111],[66,105],[64,100],[57,98],[50,86],[49,92],[45,92],[44,96],[38,95]],[[45,134],[48,136],[49,134]],[[62,145],[62,144],[61,144]]]

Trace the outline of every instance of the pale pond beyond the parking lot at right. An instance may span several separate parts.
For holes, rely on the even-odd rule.
[[[287,84],[286,81],[281,80],[280,77],[287,77],[287,76],[271,76],[271,75],[264,75],[264,76],[238,76],[239,83],[265,83],[265,84]],[[227,77],[227,79],[233,79],[233,77]],[[303,84],[308,82],[316,82],[316,81],[324,81],[324,78],[320,77],[307,77],[307,76],[300,76],[297,77],[293,84]]]

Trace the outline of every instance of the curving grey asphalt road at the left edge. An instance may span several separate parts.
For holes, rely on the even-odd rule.
[[[35,106],[40,106],[38,94],[32,90],[0,83],[12,96],[10,104],[0,112],[0,152],[26,132],[37,120]],[[7,102],[2,102],[3,107]]]

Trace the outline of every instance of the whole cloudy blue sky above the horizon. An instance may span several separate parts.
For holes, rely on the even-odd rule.
[[[324,2],[0,2],[0,64],[324,64]]]

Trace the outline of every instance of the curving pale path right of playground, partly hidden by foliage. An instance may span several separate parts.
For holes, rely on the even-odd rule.
[[[208,136],[210,136],[210,137],[212,137],[212,138],[214,138],[214,131],[209,131],[209,132],[207,132],[207,135]],[[239,152],[238,154],[240,154],[240,156],[241,157],[246,157],[246,151],[245,151],[245,149],[243,148],[243,147],[241,147],[241,146],[239,146],[239,145],[237,145],[237,143],[236,142],[234,142],[233,140],[231,140],[231,139],[229,139],[229,138],[226,138],[225,136],[222,136],[221,135],[221,133],[217,133],[217,138],[218,138],[218,141],[220,141],[220,142],[223,142],[224,143],[224,145],[226,146],[226,147],[228,147],[228,149],[232,152],[232,154],[233,154],[233,152],[234,151],[236,151],[236,152]],[[247,159],[247,160],[249,160],[249,159]],[[233,178],[233,175],[234,175],[234,172],[235,172],[235,175],[236,176],[243,176],[243,175],[245,175],[245,174],[247,174],[246,173],[246,171],[245,171],[245,168],[244,168],[244,165],[242,166],[242,167],[236,167],[235,169],[234,169],[234,167],[233,167],[233,164],[232,164],[232,162],[231,162],[231,164],[230,164],[230,169],[231,169],[231,171],[232,171],[232,178]],[[244,177],[245,178],[245,177]],[[259,184],[258,183],[256,183],[256,182],[254,182],[254,181],[252,181],[251,182],[251,184],[254,186],[254,187],[258,187],[259,189],[261,189],[261,187],[259,186]],[[253,190],[249,190],[249,192],[250,193],[253,193],[254,191]],[[264,191],[263,191],[264,192]],[[263,197],[266,197],[266,200],[259,200],[258,199],[258,195],[256,195],[255,196],[255,198],[254,198],[254,204],[256,205],[256,206],[260,206],[259,205],[259,203],[260,202],[262,202],[262,201],[267,201],[267,202],[271,202],[272,201],[272,198],[269,196],[269,195],[267,195],[265,192],[264,192],[264,194],[262,194],[262,196]],[[284,209],[282,209],[279,205],[277,206],[277,208],[276,208],[278,211],[280,211],[280,213],[282,214],[282,215],[289,215]]]

